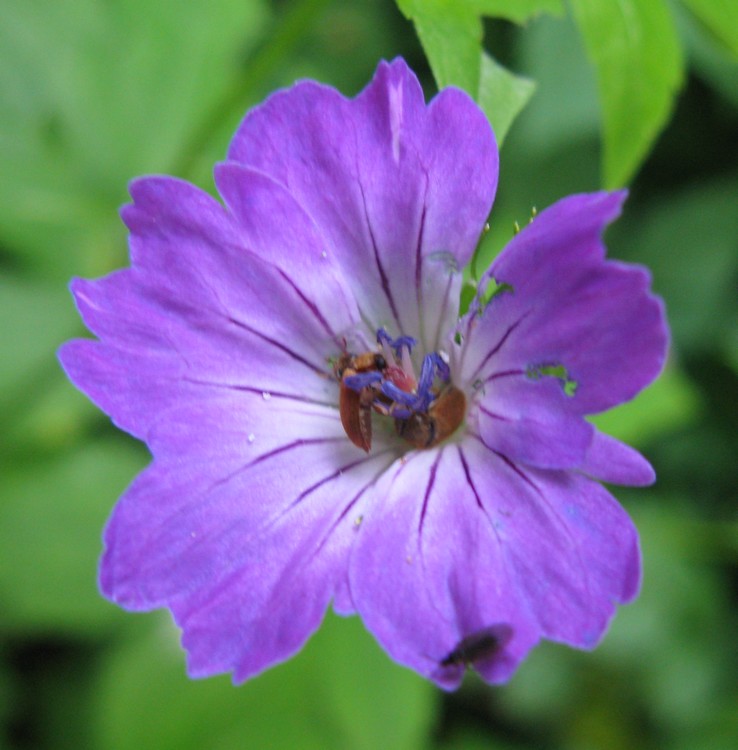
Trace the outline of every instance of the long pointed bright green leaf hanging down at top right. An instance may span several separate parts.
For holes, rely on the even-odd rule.
[[[682,83],[683,61],[661,0],[572,0],[597,69],[604,119],[603,182],[625,185],[666,124]]]

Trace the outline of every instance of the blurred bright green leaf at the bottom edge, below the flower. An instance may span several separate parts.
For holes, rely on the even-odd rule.
[[[109,660],[98,691],[109,750],[414,750],[427,745],[437,692],[382,653],[356,618],[328,616],[305,649],[240,687],[188,680],[164,620]]]

